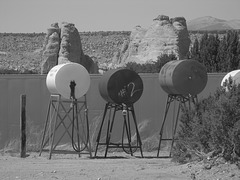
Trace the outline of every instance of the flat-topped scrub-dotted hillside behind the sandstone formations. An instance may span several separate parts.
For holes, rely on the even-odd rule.
[[[189,31],[191,42],[206,31]],[[217,32],[217,31],[216,31]],[[215,32],[215,33],[216,33]],[[224,35],[224,31],[221,31]],[[106,70],[126,51],[130,31],[80,32],[83,53]],[[0,33],[0,73],[39,73],[46,33]]]

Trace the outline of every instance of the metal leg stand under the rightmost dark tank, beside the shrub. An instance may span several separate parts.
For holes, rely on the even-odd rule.
[[[167,118],[167,114],[168,114],[168,110],[169,107],[171,105],[172,102],[178,102],[178,108],[177,108],[177,116],[175,118],[175,109],[174,109],[174,115],[173,115],[173,119],[172,119],[172,138],[163,138],[163,130],[164,130],[164,125],[166,122],[166,118]],[[158,152],[157,152],[157,157],[159,157],[159,152],[160,152],[160,148],[161,148],[161,143],[162,141],[171,141],[171,146],[170,146],[170,154],[168,157],[171,157],[171,153],[172,153],[172,147],[175,141],[175,134],[176,134],[176,130],[177,130],[177,126],[178,126],[178,118],[179,118],[179,113],[180,113],[180,108],[184,107],[184,108],[191,108],[191,103],[195,104],[197,102],[197,96],[183,96],[183,95],[174,95],[174,94],[169,94],[168,98],[167,98],[167,102],[166,102],[166,106],[165,106],[165,113],[163,116],[163,122],[161,125],[161,129],[160,129],[160,139],[159,139],[159,145],[158,145]]]

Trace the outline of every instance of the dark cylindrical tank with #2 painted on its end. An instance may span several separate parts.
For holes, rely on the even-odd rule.
[[[105,72],[99,82],[99,92],[107,102],[133,104],[142,95],[141,77],[130,69],[114,69]]]

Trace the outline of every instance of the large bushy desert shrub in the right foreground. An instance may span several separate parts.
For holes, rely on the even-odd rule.
[[[214,156],[227,161],[240,158],[240,85],[226,86],[229,91],[219,88],[193,108],[182,109],[174,161],[184,163]]]

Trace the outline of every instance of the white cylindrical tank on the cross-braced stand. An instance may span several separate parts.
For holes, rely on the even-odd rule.
[[[78,63],[65,63],[54,66],[47,74],[46,85],[51,94],[59,94],[70,99],[70,83],[74,81],[75,98],[84,96],[90,87],[90,76],[85,67]]]

